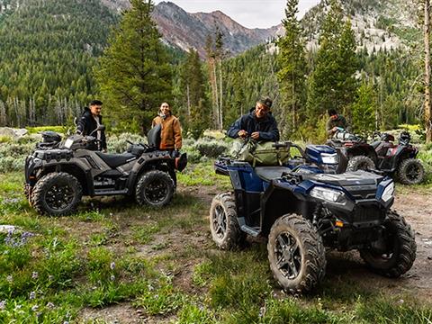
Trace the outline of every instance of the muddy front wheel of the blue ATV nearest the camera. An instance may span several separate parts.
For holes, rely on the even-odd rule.
[[[302,216],[287,214],[276,220],[267,251],[275,280],[290,293],[310,292],[325,275],[322,238]]]

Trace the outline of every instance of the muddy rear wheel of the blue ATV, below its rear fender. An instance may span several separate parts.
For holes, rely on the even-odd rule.
[[[244,243],[246,233],[238,225],[236,202],[231,193],[220,193],[213,198],[210,230],[211,238],[221,249],[233,249]]]

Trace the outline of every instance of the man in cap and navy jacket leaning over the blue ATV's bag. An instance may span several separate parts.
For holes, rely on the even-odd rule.
[[[229,127],[227,131],[228,136],[233,139],[250,136],[256,140],[279,140],[277,123],[272,112],[270,112],[272,103],[270,98],[258,100],[255,108],[252,108],[249,113],[238,118]]]

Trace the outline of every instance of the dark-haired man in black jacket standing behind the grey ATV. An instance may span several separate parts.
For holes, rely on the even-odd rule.
[[[81,118],[76,125],[76,132],[82,135],[90,135],[98,125],[102,125],[102,102],[94,100],[90,103],[90,108],[85,107]],[[106,151],[106,138],[103,130],[97,130],[93,136],[98,140],[98,149]]]

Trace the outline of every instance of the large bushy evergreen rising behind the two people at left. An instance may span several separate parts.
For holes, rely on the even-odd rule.
[[[171,99],[171,67],[156,23],[151,0],[131,0],[130,10],[109,40],[96,79],[110,117],[127,127],[148,130],[161,102]],[[121,125],[121,121],[125,123]]]

